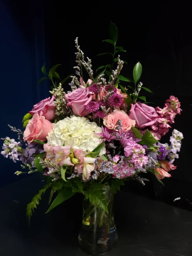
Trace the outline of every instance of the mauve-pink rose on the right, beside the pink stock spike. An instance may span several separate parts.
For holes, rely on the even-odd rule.
[[[155,108],[141,102],[137,102],[134,105],[131,104],[129,116],[135,119],[136,127],[140,127],[140,129],[155,124],[158,119]]]

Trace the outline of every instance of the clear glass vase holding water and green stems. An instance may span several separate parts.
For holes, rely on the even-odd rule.
[[[83,221],[79,232],[80,248],[93,255],[103,255],[111,252],[117,242],[117,231],[114,221],[114,194],[105,187],[108,213],[94,205],[89,200],[83,202]]]

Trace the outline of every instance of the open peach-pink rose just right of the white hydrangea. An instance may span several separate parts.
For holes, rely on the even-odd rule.
[[[113,112],[109,113],[108,116],[106,116],[103,119],[103,124],[108,129],[114,129],[116,122],[118,120],[121,120],[122,130],[124,132],[131,130],[131,126],[135,126],[135,120],[132,120],[131,117],[129,117],[123,110],[115,109]]]

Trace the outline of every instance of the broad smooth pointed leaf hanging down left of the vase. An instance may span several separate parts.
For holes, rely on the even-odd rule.
[[[70,187],[64,187],[60,191],[60,193],[57,195],[55,200],[50,205],[49,209],[45,212],[50,212],[53,208],[55,208],[57,205],[63,203],[65,200],[69,199],[71,196],[73,196],[75,193],[72,191],[72,188]]]

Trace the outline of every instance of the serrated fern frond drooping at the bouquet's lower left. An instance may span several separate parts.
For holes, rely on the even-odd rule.
[[[34,212],[34,209],[37,208],[37,205],[39,204],[39,200],[41,199],[42,194],[47,190],[47,188],[50,188],[51,185],[52,184],[47,184],[44,186],[44,188],[40,189],[39,193],[32,198],[31,203],[27,205],[26,215],[28,217],[28,220],[30,220],[32,212]]]

